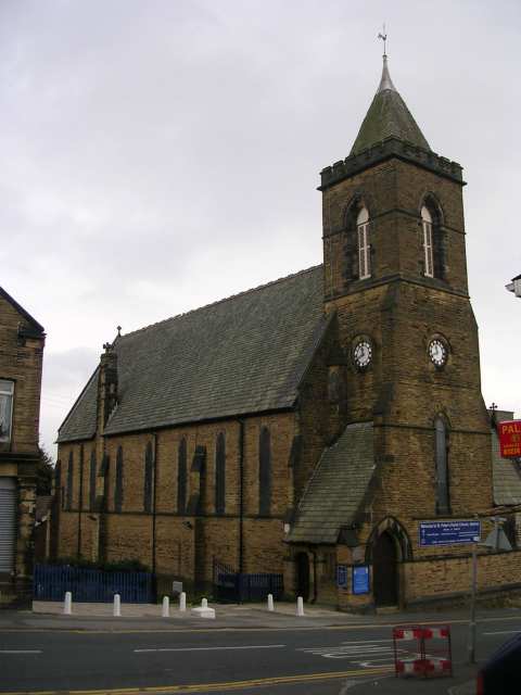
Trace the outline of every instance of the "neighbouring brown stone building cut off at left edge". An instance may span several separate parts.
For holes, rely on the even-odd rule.
[[[0,594],[30,591],[43,328],[0,288]]]

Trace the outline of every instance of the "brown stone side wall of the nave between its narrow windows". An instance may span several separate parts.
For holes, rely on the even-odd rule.
[[[269,516],[260,517],[258,509],[258,437],[262,427],[268,427],[271,441],[271,506]],[[226,439],[226,507],[224,515],[215,509],[215,444],[217,435]],[[282,571],[283,519],[290,495],[290,452],[294,437],[293,414],[277,414],[244,419],[244,571]],[[187,501],[201,490],[200,472],[193,471],[196,446],[206,447],[206,483],[201,513],[193,509],[185,514],[177,509],[178,447],[187,441]],[[155,522],[152,513],[145,513],[144,456],[148,443],[155,450]],[[163,578],[183,579],[187,582],[212,580],[213,560],[236,568],[239,566],[240,510],[240,424],[238,420],[165,429],[157,432],[124,434],[105,438],[104,450],[110,458],[104,479],[105,511],[89,510],[90,452],[96,442],[60,444],[62,462],[60,485],[66,491],[69,452],[75,460],[73,507],[61,511],[60,555],[77,554],[78,520],[81,519],[81,548],[84,557],[98,555],[98,532],[102,529],[105,559],[139,559],[155,568]],[[123,450],[122,511],[115,510],[115,472],[118,447]],[[80,450],[84,448],[82,498],[79,509]],[[101,482],[100,482],[101,480]],[[103,479],[97,478],[101,490]],[[155,534],[155,557],[154,557]]]

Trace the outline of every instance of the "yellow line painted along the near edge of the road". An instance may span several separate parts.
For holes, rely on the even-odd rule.
[[[374,667],[369,669],[356,669],[351,671],[325,671],[320,673],[307,673],[298,675],[276,675],[272,678],[258,678],[249,681],[228,681],[221,683],[198,683],[196,685],[164,685],[153,687],[117,687],[111,690],[89,691],[30,691],[30,695],[135,695],[136,693],[212,693],[224,691],[239,691],[246,687],[262,687],[266,685],[284,685],[291,683],[306,683],[309,681],[338,680],[356,675],[383,675],[392,673],[389,667]],[[2,695],[27,695],[28,691],[2,693]]]

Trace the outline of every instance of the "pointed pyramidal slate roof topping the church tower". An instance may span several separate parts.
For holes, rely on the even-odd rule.
[[[405,140],[423,150],[431,149],[405,101],[394,87],[384,56],[380,86],[364,118],[351,154],[358,154],[391,137]]]

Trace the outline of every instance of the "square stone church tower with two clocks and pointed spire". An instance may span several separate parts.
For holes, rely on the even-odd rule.
[[[372,565],[377,605],[414,601],[427,581],[417,560],[455,552],[420,546],[422,520],[493,505],[463,186],[461,166],[431,150],[384,55],[351,153],[321,172],[319,189],[345,425],[373,428],[376,472],[352,544]]]

